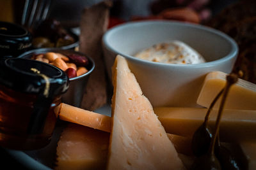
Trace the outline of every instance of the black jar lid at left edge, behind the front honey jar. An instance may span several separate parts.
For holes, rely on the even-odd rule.
[[[32,36],[21,25],[10,22],[0,22],[1,56],[17,57],[31,48]]]

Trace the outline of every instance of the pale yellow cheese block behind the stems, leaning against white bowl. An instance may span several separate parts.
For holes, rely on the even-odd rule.
[[[226,73],[216,71],[207,74],[204,85],[197,99],[197,104],[209,108],[212,100],[217,96],[226,83]],[[220,107],[221,97],[214,108]],[[237,110],[256,110],[256,85],[239,79],[230,88],[225,108]]]

